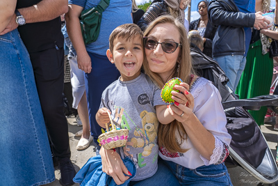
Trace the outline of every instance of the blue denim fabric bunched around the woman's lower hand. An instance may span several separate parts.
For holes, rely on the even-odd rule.
[[[125,183],[121,186],[126,186],[129,184],[131,179],[136,176],[136,166],[133,162],[126,157],[124,160],[124,165],[132,174]],[[128,176],[128,175],[126,175]],[[86,164],[80,169],[76,176],[74,177],[74,182],[79,183],[81,186],[116,186],[117,184],[113,180],[111,176],[108,176],[106,173],[102,171],[101,164],[101,156],[97,155],[95,157],[91,157]]]

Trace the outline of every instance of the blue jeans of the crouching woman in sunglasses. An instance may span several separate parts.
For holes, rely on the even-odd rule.
[[[199,166],[188,169],[174,162],[165,161],[171,171],[176,175],[181,185],[219,186],[232,185],[227,167],[222,164]]]

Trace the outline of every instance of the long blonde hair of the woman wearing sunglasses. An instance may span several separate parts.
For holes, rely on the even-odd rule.
[[[163,15],[156,18],[156,20],[149,24],[144,33],[144,37],[148,36],[157,24],[165,23],[170,23],[177,27],[180,35],[179,40],[181,43],[181,49],[179,51],[176,68],[174,68],[173,72],[171,72],[171,75],[168,77],[167,81],[173,77],[179,77],[183,80],[183,82],[190,84],[190,74],[193,73],[193,69],[191,65],[190,47],[188,44],[186,29],[184,28],[183,24],[181,24],[179,20],[174,19],[174,17],[171,15]],[[159,86],[159,88],[163,88],[166,82],[163,82],[161,77],[156,72],[149,70],[149,65],[146,58],[144,59],[143,67],[145,74],[147,74],[152,79],[152,81]],[[178,137],[175,137],[176,132],[179,134]],[[186,130],[184,130],[183,125],[177,120],[174,120],[172,123],[167,125],[160,124],[158,127],[158,146],[164,146],[172,153],[185,153],[187,151],[187,149],[180,147],[183,140],[185,139]]]

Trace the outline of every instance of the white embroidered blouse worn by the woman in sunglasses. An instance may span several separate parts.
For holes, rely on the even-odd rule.
[[[221,104],[220,93],[210,81],[203,77],[195,80],[190,88],[190,93],[193,95],[195,102],[193,113],[206,130],[215,137],[215,148],[211,160],[202,157],[189,138],[181,144],[181,148],[189,149],[186,153],[170,153],[161,147],[159,155],[163,160],[175,162],[188,169],[196,169],[199,166],[209,164],[220,164],[229,155],[228,146],[231,142],[231,136],[225,127],[227,119]]]

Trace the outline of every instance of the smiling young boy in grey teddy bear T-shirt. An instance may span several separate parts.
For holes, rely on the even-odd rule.
[[[116,152],[101,148],[101,157],[106,158],[101,160],[102,170],[112,176],[117,185],[124,183],[129,176],[133,177],[133,183],[143,180],[148,184],[159,181],[163,184],[169,182],[167,185],[175,184],[177,179],[164,164],[159,165],[158,169],[156,109],[163,107],[159,109],[161,119],[170,114],[161,99],[161,90],[147,75],[141,73],[144,60],[142,31],[136,24],[117,26],[111,33],[109,43],[106,55],[111,63],[115,63],[121,76],[102,94],[101,109],[97,112],[96,119],[101,127],[105,127],[105,123],[110,122],[106,111],[110,111],[113,124],[117,128],[129,129],[129,137],[126,146],[116,148]],[[121,157],[129,157],[135,164],[135,176],[123,166]],[[117,160],[111,161],[115,159]],[[111,170],[113,168],[120,171],[114,172]],[[158,172],[160,178],[154,176]],[[129,176],[124,176],[124,173]]]

